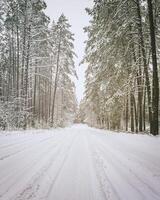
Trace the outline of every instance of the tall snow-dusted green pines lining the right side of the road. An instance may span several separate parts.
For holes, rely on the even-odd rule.
[[[85,98],[90,125],[159,133],[160,1],[95,0],[88,34]]]

